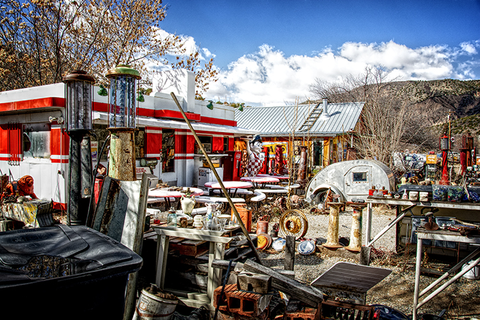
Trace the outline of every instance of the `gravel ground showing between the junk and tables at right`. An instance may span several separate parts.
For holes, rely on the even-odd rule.
[[[374,208],[373,211],[372,236],[378,234],[395,218],[395,210],[389,208],[378,207]],[[308,214],[307,212],[305,214],[309,223],[305,238],[326,238],[328,214]],[[278,222],[278,219],[272,219],[272,222],[276,221]],[[346,211],[339,214],[339,236],[350,238],[351,225],[352,210],[347,207]],[[364,220],[363,230],[366,230],[365,228],[366,221]],[[403,254],[396,254],[395,247],[396,234],[394,228],[374,243],[370,265],[390,269],[392,273],[368,291],[367,304],[384,304],[411,317],[415,286],[415,254],[409,254],[408,258],[405,258]],[[277,253],[273,249],[267,249],[259,251],[259,256],[267,267],[283,269],[285,260],[283,252]],[[374,256],[378,256],[378,258],[374,258]],[[294,267],[296,280],[304,284],[310,284],[339,261],[347,260],[321,254],[318,251],[309,256],[297,253]],[[357,263],[355,260],[347,262]],[[434,280],[435,278],[432,276],[421,275],[420,290]],[[447,310],[444,315],[446,319],[480,319],[480,281],[460,278],[437,297],[422,306],[418,313],[437,315],[443,309]]]

